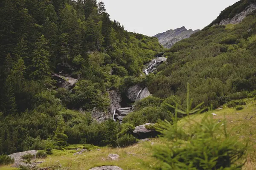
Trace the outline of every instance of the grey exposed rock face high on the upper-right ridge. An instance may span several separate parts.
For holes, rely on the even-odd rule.
[[[219,25],[227,25],[227,24],[237,24],[240,23],[244,18],[253,12],[256,9],[256,4],[250,4],[244,11],[240,12],[239,14],[236,14],[235,17],[229,19],[222,20]]]

